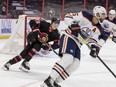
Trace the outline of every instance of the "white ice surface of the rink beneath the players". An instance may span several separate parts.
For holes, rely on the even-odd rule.
[[[0,47],[6,40],[0,40]],[[80,67],[66,81],[62,87],[116,87],[116,78],[99,61],[89,56],[89,49],[83,45]],[[51,52],[40,57],[35,55],[30,61],[30,72],[19,70],[21,62],[11,66],[10,71],[2,70],[2,66],[15,55],[0,53],[0,87],[40,87],[50,74],[54,63],[60,58]],[[99,56],[116,74],[116,44],[108,40],[100,51]]]

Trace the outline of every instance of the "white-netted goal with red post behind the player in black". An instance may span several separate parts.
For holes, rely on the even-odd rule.
[[[19,54],[26,46],[26,36],[31,31],[29,21],[32,19],[40,20],[37,16],[20,15],[13,26],[12,33],[0,53]]]

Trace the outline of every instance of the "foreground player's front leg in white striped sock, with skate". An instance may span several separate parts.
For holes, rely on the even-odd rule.
[[[61,76],[61,78],[65,80],[69,77],[66,68],[73,63],[73,59],[71,54],[64,54],[62,59],[55,63],[50,76],[44,81],[41,87],[61,87],[56,82],[56,78]]]

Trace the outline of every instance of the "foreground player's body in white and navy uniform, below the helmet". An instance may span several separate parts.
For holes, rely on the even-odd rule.
[[[79,67],[80,47],[83,44],[78,39],[79,34],[88,42],[90,55],[94,57],[99,53],[99,36],[106,39],[98,19],[88,12],[67,13],[65,22],[69,27],[60,38],[59,55],[62,58],[55,63],[41,87],[61,87],[58,83],[66,80]]]

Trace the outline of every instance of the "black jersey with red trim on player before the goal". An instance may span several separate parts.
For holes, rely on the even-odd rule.
[[[60,33],[58,31],[58,29],[56,30],[52,30],[50,27],[50,23],[46,22],[45,20],[40,21],[38,24],[36,24],[36,29],[32,30],[32,34],[31,36],[33,36],[33,38],[36,38],[36,41],[38,42],[38,35],[40,33],[47,33],[48,34],[48,42],[53,41],[54,43],[51,45],[53,47],[53,49],[57,49],[59,47],[59,38],[60,38]]]

